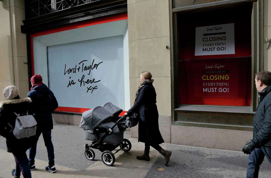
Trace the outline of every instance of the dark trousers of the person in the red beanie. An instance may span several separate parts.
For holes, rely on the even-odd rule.
[[[51,139],[52,130],[39,130],[36,131],[36,140],[33,144],[33,147],[29,149],[29,164],[33,165],[35,163],[35,156],[37,151],[37,142],[39,140],[39,136],[42,134],[45,146],[47,148],[47,154],[49,159],[49,167],[54,166],[54,146]]]

